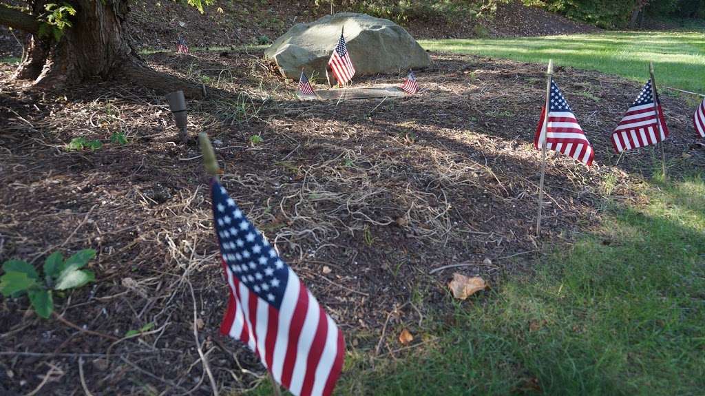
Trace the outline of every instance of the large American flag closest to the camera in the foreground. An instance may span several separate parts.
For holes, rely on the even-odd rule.
[[[217,180],[211,193],[231,291],[221,333],[245,342],[293,395],[330,395],[343,333]]]

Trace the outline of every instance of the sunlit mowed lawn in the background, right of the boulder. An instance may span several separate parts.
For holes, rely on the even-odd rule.
[[[515,61],[599,70],[630,80],[649,79],[654,62],[656,82],[705,93],[705,33],[605,32],[591,35],[516,39],[420,40],[431,51],[476,54]]]

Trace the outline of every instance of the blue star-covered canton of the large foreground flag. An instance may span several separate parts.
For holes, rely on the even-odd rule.
[[[279,309],[289,278],[288,266],[219,182],[212,183],[211,192],[223,260],[243,285]]]

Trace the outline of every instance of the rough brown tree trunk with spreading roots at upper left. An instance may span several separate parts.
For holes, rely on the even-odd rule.
[[[64,30],[59,42],[39,37],[36,16],[47,0],[37,0],[27,13],[0,4],[0,23],[32,33],[17,78],[35,80],[35,85],[56,87],[87,80],[132,80],[159,92],[182,89],[187,97],[227,97],[227,92],[207,88],[159,73],[147,66],[130,44],[125,29],[129,13],[128,0],[71,0],[77,13],[71,18],[73,27]]]

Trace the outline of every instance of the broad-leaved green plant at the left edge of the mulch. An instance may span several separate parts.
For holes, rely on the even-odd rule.
[[[32,264],[10,259],[2,265],[0,292],[13,298],[26,293],[37,314],[49,318],[54,311],[55,291],[75,289],[95,280],[93,271],[80,269],[94,256],[93,249],[83,249],[68,259],[63,259],[61,252],[54,252],[44,260],[44,280]]]

